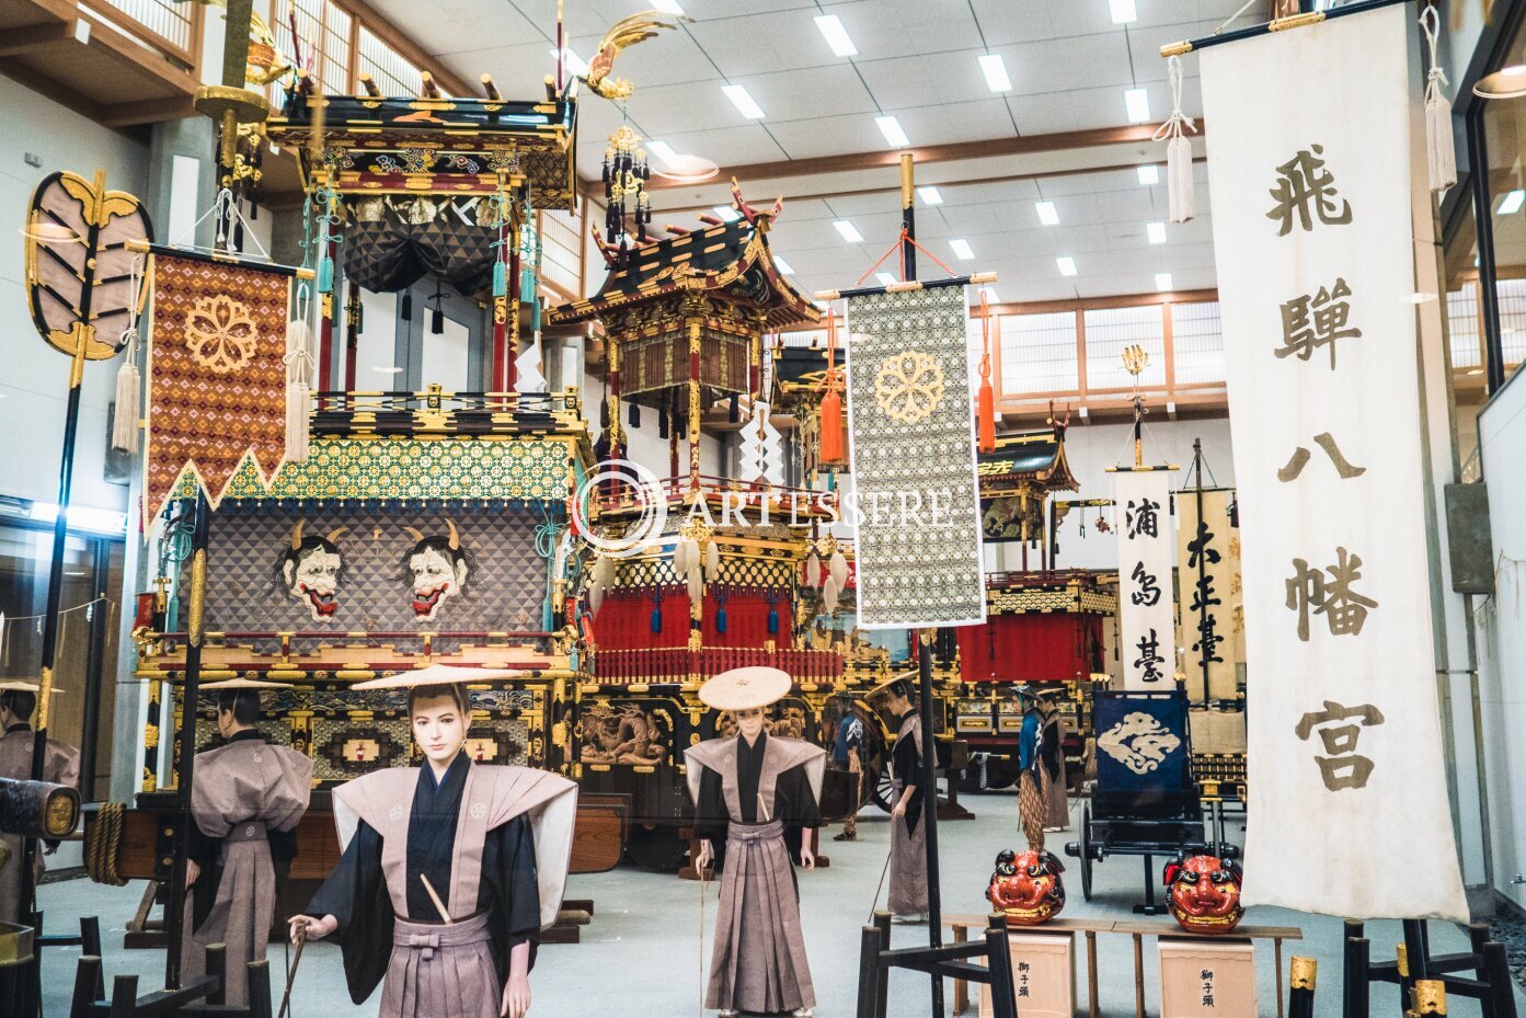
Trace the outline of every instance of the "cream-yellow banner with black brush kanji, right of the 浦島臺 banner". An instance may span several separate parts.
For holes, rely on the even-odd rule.
[[[1236,696],[1239,542],[1230,530],[1233,499],[1235,491],[1228,488],[1177,491],[1177,577],[1181,586],[1177,643],[1184,649],[1183,672],[1187,699],[1193,704]]]

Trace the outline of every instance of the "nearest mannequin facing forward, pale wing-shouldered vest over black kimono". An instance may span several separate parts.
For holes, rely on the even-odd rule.
[[[426,673],[443,681],[430,684]],[[424,762],[334,789],[343,856],[307,914],[291,917],[291,937],[337,934],[351,1000],[365,1001],[382,983],[386,1018],[530,1010],[536,945],[566,887],[577,786],[531,768],[473,763],[461,751],[470,708],[458,682],[504,675],[435,665],[360,684],[409,685]]]

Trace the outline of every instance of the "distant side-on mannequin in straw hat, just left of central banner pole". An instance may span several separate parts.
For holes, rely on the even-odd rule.
[[[911,685],[899,676],[879,687],[871,702],[896,719],[896,746],[890,755],[890,899],[894,922],[928,917],[928,830],[922,823],[922,713],[911,702]]]

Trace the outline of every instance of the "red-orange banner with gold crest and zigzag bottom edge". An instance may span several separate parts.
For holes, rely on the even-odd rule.
[[[246,456],[281,467],[293,270],[156,249],[150,279],[145,520],[186,472],[217,508]]]

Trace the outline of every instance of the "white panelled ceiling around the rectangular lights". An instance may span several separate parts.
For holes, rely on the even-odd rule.
[[[554,69],[555,0],[371,2],[459,76],[488,72],[507,95],[543,95],[542,78]],[[1170,113],[1160,46],[1212,32],[1241,2],[1137,0],[1138,18],[1120,26],[1108,0],[681,0],[693,21],[627,49],[613,73],[636,85],[629,122],[642,137],[723,171],[778,163],[743,186],[758,206],[786,195],[771,243],[795,267],[800,288],[818,290],[852,285],[900,226],[897,168],[861,159],[890,154],[876,114],[896,116],[913,148],[1032,139],[1125,127],[1123,92],[1143,87],[1158,124]],[[569,44],[588,60],[610,24],[647,9],[650,0],[568,0]],[[855,56],[832,53],[813,23],[823,12],[842,20]],[[983,53],[1001,55],[1010,92],[989,90]],[[1184,108],[1198,116],[1195,61],[1184,70]],[[726,82],[745,85],[765,119],[745,119],[722,95]],[[623,114],[584,89],[578,118],[578,172],[597,182],[604,139]],[[1201,159],[1201,139],[1193,148]],[[1167,224],[1167,241],[1149,244],[1144,224],[1169,218],[1163,143],[996,151],[948,157],[945,150],[943,159],[920,163],[917,183],[938,186],[943,205],[919,200],[917,229],[957,270],[998,272],[1003,302],[1154,292],[1157,272],[1170,272],[1177,288],[1213,285],[1201,162],[1201,215]],[[787,162],[821,157],[842,162],[810,174]],[[1146,162],[1161,166],[1158,185],[1138,183],[1134,165]],[[1038,221],[1041,198],[1054,203],[1058,226]],[[693,226],[696,208],[725,201],[725,172],[653,191],[658,226]],[[864,243],[845,244],[836,218],[850,218]],[[952,237],[967,240],[975,258],[957,261]],[[1076,259],[1076,278],[1059,275],[1059,255]]]

